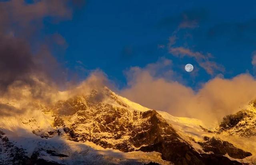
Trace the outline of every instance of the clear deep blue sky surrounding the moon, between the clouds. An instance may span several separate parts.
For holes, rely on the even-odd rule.
[[[70,20],[52,24],[46,19],[43,33],[58,33],[66,40],[66,49],[56,47],[54,55],[77,73],[78,79],[84,79],[88,71],[101,69],[122,88],[126,86],[124,72],[130,67],[143,68],[165,57],[182,77],[181,83],[197,88],[215,76],[254,73],[255,9],[254,1],[88,0]],[[180,28],[183,23],[186,26]],[[168,44],[174,34],[172,47],[203,56],[210,53],[209,60],[222,69],[209,74],[200,66],[200,59],[173,55]],[[184,71],[186,63],[194,65],[196,74]]]

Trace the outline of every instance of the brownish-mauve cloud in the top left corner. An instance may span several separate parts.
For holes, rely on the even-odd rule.
[[[9,27],[13,23],[22,27],[46,16],[71,18],[72,10],[67,5],[67,0],[37,0],[29,4],[24,0],[0,2],[0,22]]]

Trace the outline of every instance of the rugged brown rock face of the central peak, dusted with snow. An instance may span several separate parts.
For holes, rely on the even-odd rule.
[[[102,102],[104,98],[110,98],[111,102],[119,106]],[[60,101],[51,111],[54,112],[53,126],[58,130],[58,134],[73,141],[91,141],[104,148],[123,152],[157,151],[162,153],[162,159],[177,165],[220,162],[239,164],[221,156],[227,152],[216,152],[218,155],[198,153],[155,110],[130,110],[125,102],[108,89],[103,93],[92,90],[88,96],[76,96],[67,101]],[[61,133],[61,130],[64,132]],[[210,144],[205,146],[207,148]],[[230,148],[227,150],[230,151]],[[239,157],[231,153],[230,151],[230,157]]]

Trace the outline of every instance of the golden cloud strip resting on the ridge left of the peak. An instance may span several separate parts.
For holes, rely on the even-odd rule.
[[[84,81],[76,84],[70,83],[62,91],[59,90],[58,86],[54,86],[44,79],[38,79],[32,75],[30,75],[30,79],[33,80],[33,85],[17,80],[10,84],[6,92],[0,96],[0,117],[19,116],[26,112],[40,112],[42,105],[51,106],[59,100],[90,94],[92,89],[100,92],[104,86],[112,87],[111,81],[100,70],[91,71]]]

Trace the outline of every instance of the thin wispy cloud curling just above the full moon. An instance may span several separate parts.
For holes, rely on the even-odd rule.
[[[192,9],[182,12],[179,17],[170,20],[179,20],[180,23],[178,24],[177,28],[172,32],[172,35],[168,39],[168,43],[166,48],[168,52],[176,57],[190,57],[194,58],[198,65],[202,67],[206,73],[210,75],[214,75],[217,72],[224,72],[225,69],[222,65],[217,64],[216,62],[212,61],[213,56],[210,53],[201,53],[199,51],[193,51],[188,47],[188,42],[178,41],[181,37],[184,38],[192,38],[192,35],[185,30],[187,29],[194,29],[199,27],[199,22],[206,20],[208,17],[208,13],[206,10],[200,9]],[[180,36],[182,35],[182,36]],[[161,48],[164,48],[162,46]]]

